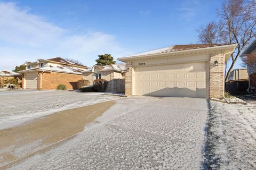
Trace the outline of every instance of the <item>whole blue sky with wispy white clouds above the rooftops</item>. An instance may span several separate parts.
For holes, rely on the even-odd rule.
[[[38,58],[95,64],[178,44],[196,44],[197,29],[222,1],[0,1],[0,70]],[[241,67],[238,63],[236,67]]]

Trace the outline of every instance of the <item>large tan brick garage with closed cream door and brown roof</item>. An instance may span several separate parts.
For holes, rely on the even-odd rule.
[[[222,98],[224,69],[237,44],[174,45],[118,58],[125,94]]]

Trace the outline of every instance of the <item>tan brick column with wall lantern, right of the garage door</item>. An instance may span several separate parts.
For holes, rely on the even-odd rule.
[[[215,65],[218,61],[218,65]],[[224,56],[211,54],[209,70],[209,97],[222,98],[224,94]]]

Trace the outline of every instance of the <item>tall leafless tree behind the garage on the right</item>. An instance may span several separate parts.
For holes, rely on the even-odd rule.
[[[217,26],[213,25],[214,27],[210,27],[211,24],[207,24],[206,28],[201,29],[199,32],[198,40],[205,44],[209,42],[238,44],[235,52],[231,54],[231,66],[226,73],[225,81],[227,81],[244,47],[250,43],[252,38],[256,37],[255,11],[255,0],[225,0],[221,10],[217,10],[219,19],[216,23]],[[212,34],[214,34],[214,36]],[[207,35],[211,35],[210,40]]]

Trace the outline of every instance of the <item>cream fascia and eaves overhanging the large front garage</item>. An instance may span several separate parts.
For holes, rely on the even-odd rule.
[[[229,56],[234,52],[236,49],[237,44],[228,44],[228,45],[221,45],[221,46],[214,46],[214,47],[204,47],[204,48],[196,48],[196,49],[188,49],[188,50],[178,50],[174,52],[167,52],[167,53],[157,53],[157,54],[148,54],[148,55],[140,55],[140,56],[130,56],[130,57],[121,57],[117,58],[117,60],[126,62],[129,60],[134,59],[144,59],[148,57],[158,57],[158,56],[166,56],[166,55],[173,55],[173,54],[182,54],[182,53],[190,53],[190,52],[199,52],[204,50],[223,50],[225,52],[225,61],[229,58]]]

